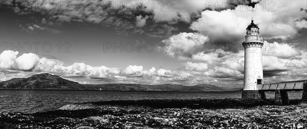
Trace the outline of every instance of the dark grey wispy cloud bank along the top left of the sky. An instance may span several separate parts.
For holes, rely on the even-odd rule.
[[[60,6],[59,3],[60,2]],[[213,6],[210,4],[213,3]],[[113,27],[116,33],[146,34],[151,37],[167,37],[170,28],[184,22],[189,24],[199,18],[201,11],[232,9],[236,5],[254,5],[251,1],[5,1],[1,6],[10,7],[20,15],[41,14],[41,19],[31,23],[43,27],[60,26],[63,23],[79,22]],[[218,6],[218,5],[223,6]],[[52,6],[50,6],[52,5]],[[120,6],[119,6],[120,5]],[[138,17],[138,16],[145,17]],[[35,16],[33,16],[35,17]],[[139,19],[138,19],[139,18]],[[137,21],[136,21],[137,19]],[[38,23],[39,22],[39,23]],[[149,26],[145,26],[149,25]],[[26,25],[23,25],[26,26]],[[35,31],[33,26],[24,27]],[[59,31],[56,31],[57,33]]]

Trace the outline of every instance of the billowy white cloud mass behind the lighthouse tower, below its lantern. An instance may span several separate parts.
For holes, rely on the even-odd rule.
[[[273,47],[274,44],[274,47]],[[286,43],[267,42],[262,48],[262,65],[265,80],[272,82],[282,81],[278,76],[297,75],[307,72],[307,53],[305,49],[296,48]],[[269,51],[269,52],[268,52]],[[244,78],[244,50],[238,52],[202,51],[186,57],[189,61],[182,64],[182,68],[195,77],[193,82],[225,82],[232,83]],[[163,76],[165,71],[158,71]],[[159,74],[159,73],[158,73]],[[277,78],[276,78],[277,77]],[[203,79],[203,80],[202,80]],[[287,78],[287,80],[291,80]]]

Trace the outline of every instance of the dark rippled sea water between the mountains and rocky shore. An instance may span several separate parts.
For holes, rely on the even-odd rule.
[[[159,91],[81,91],[81,90],[0,90],[0,112],[35,113],[56,110],[72,103],[141,100],[241,98],[241,92],[159,92]],[[266,92],[274,98],[274,92]],[[302,92],[288,92],[290,99],[301,99]]]

